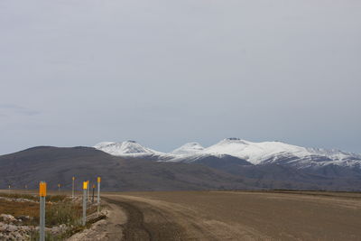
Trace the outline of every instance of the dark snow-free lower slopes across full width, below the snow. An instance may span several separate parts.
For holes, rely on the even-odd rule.
[[[254,165],[230,155],[195,155],[190,162],[154,162],[154,156],[119,157],[91,147],[34,147],[0,156],[0,188],[37,188],[47,181],[70,189],[102,177],[103,190],[360,190],[357,171],[328,166],[312,172],[277,163]],[[152,162],[153,161],[153,162]]]

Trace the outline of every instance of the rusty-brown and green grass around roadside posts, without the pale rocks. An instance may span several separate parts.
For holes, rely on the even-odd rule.
[[[0,214],[10,214],[23,221],[15,221],[16,225],[39,226],[39,196],[21,193],[0,193]],[[19,200],[16,200],[19,199]],[[21,200],[20,200],[21,199]],[[87,215],[97,212],[97,206],[89,205]],[[27,217],[27,218],[26,218]],[[87,226],[81,226],[82,206],[80,199],[70,199],[65,195],[49,195],[46,197],[45,226],[46,240],[64,240],[105,216],[88,220]],[[1,220],[0,220],[1,221]],[[49,229],[51,228],[51,229]],[[39,240],[39,231],[33,230],[30,240]]]

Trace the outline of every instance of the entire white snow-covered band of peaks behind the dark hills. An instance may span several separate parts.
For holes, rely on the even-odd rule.
[[[254,143],[238,138],[227,138],[204,148],[198,143],[184,144],[171,153],[160,153],[134,141],[101,143],[98,150],[118,156],[150,158],[158,162],[205,162],[207,158],[229,160],[229,156],[254,165],[282,164],[297,169],[318,169],[334,165],[361,169],[361,155],[338,150],[306,148],[282,142]],[[213,161],[215,162],[215,161]],[[225,161],[226,162],[226,161]],[[232,160],[235,162],[235,160]]]

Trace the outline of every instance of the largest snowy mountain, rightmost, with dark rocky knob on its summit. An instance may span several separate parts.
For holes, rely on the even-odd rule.
[[[202,153],[223,153],[245,159],[253,164],[288,163],[296,167],[315,165],[360,165],[361,155],[338,150],[306,148],[282,142],[253,143],[227,138],[204,149]]]

